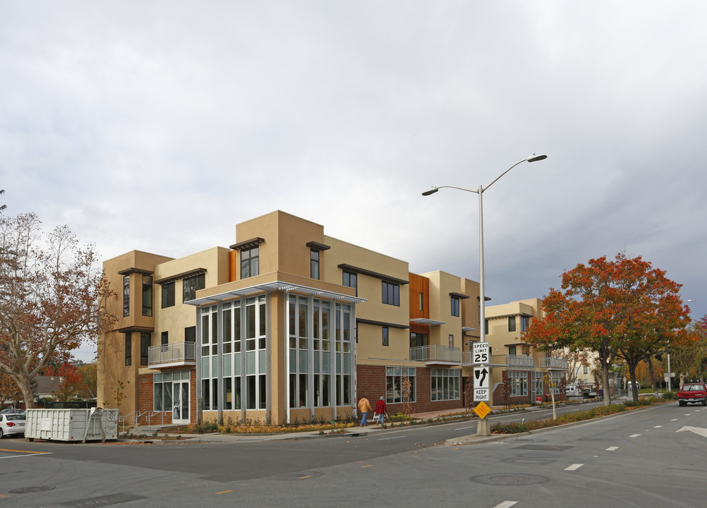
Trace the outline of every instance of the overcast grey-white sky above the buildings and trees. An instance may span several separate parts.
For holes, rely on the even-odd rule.
[[[6,213],[104,259],[274,210],[543,297],[619,251],[707,314],[707,2],[0,0]]]

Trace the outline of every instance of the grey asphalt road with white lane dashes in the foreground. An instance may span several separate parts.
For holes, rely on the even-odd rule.
[[[504,418],[531,416],[545,415]],[[704,507],[707,429],[697,429],[706,416],[670,403],[457,447],[440,443],[475,423],[227,444],[3,439],[0,505]]]

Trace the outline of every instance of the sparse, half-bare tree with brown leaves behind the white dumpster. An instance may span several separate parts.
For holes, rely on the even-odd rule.
[[[0,372],[25,407],[35,407],[31,385],[45,367],[110,329],[109,297],[93,247],[81,247],[69,228],[47,234],[34,213],[0,215]]]

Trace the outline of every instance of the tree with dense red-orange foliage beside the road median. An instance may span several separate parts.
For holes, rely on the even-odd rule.
[[[590,259],[563,273],[561,290],[551,288],[543,300],[544,318],[535,319],[522,340],[543,350],[595,351],[605,406],[611,403],[609,368],[623,358],[635,401],[638,362],[692,339],[684,332],[690,319],[681,287],[641,256]]]

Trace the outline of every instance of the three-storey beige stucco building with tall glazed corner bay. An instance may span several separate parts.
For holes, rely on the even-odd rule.
[[[100,341],[100,406],[153,424],[331,420],[362,395],[402,410],[406,379],[413,412],[464,406],[478,283],[410,273],[281,211],[235,233],[180,259],[105,261],[119,298]]]

